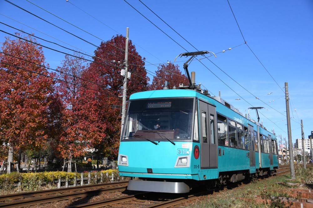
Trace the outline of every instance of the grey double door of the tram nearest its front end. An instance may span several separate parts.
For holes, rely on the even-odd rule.
[[[215,106],[200,101],[201,168],[217,167]]]

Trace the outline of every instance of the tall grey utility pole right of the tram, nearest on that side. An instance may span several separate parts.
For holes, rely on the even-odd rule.
[[[290,177],[295,179],[295,167],[292,151],[292,138],[291,138],[291,126],[290,126],[290,112],[289,112],[289,92],[288,83],[285,82],[285,97],[286,97],[286,114],[287,114],[287,129],[288,129],[288,143],[289,143],[289,163],[290,163]]]

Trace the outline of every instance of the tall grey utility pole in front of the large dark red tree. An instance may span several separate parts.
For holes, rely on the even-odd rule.
[[[126,44],[125,44],[125,77],[124,77],[124,84],[123,84],[123,104],[122,104],[122,124],[121,124],[121,136],[122,131],[125,123],[125,115],[126,115],[126,92],[127,92],[127,72],[128,72],[128,33],[129,28],[126,27]]]

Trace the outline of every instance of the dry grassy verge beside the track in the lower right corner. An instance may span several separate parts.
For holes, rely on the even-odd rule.
[[[265,178],[264,180],[254,179],[248,184],[235,188],[225,188],[227,190],[214,192],[211,195],[201,197],[189,207],[286,207],[281,197],[287,197],[286,190],[290,188],[312,189],[313,186],[313,166],[295,166],[295,180],[291,180],[290,173],[285,175]],[[256,203],[255,198],[269,200],[268,203]]]

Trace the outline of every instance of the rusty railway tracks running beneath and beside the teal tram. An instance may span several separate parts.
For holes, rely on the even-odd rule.
[[[290,171],[289,166],[280,166],[280,169],[277,169],[275,175],[284,174],[288,171]],[[58,207],[68,208],[95,208],[105,206],[173,207],[196,201],[198,197],[208,195],[213,191],[200,191],[198,193],[180,195],[156,194],[151,192],[126,191],[127,184],[128,182],[116,182],[0,196],[0,208],[49,207],[56,203],[59,203]],[[104,197],[104,194],[107,198]]]

